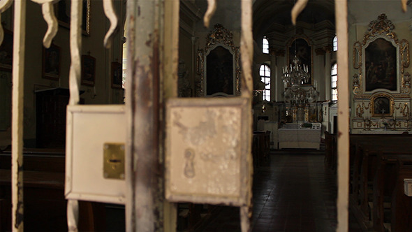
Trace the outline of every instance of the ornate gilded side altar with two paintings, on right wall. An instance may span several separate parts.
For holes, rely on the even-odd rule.
[[[353,45],[353,133],[411,129],[409,42],[399,41],[385,14]],[[385,132],[382,132],[385,133]]]

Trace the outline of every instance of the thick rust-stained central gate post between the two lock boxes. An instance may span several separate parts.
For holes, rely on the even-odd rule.
[[[159,175],[159,9],[161,1],[128,1],[126,229],[161,231]]]

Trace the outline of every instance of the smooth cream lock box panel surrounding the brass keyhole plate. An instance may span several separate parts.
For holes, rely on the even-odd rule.
[[[68,106],[67,117],[66,198],[124,204],[125,181],[103,177],[103,144],[126,142],[124,105]]]

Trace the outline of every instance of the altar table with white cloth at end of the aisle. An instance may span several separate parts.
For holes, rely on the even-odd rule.
[[[295,125],[278,129],[279,149],[305,148],[319,150],[321,146],[321,124],[314,123],[310,127],[301,126],[300,124]]]

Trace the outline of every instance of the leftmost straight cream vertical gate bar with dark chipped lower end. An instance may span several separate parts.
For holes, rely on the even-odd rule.
[[[23,231],[23,96],[26,0],[15,1],[12,103],[12,230]]]

